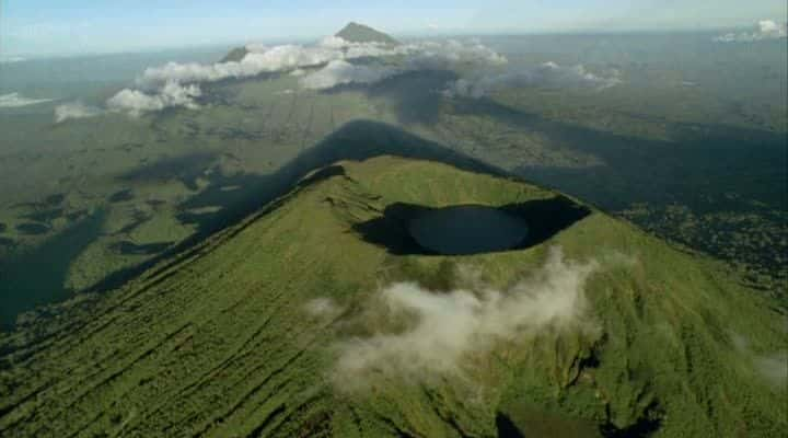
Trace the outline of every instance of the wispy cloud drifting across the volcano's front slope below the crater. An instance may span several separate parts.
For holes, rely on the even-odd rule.
[[[380,323],[405,319],[405,328],[357,337],[338,345],[335,379],[339,388],[362,385],[372,374],[419,379],[462,374],[463,359],[488,353],[496,342],[547,328],[588,326],[583,289],[596,262],[564,258],[554,247],[541,268],[507,290],[484,286],[433,292],[410,283],[380,293]],[[474,281],[470,281],[474,283]]]

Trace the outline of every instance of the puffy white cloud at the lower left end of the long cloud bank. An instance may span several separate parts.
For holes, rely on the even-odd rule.
[[[197,110],[199,105],[195,102],[195,97],[199,97],[201,94],[197,84],[182,85],[175,81],[169,81],[155,94],[146,94],[139,90],[121,90],[107,101],[107,108],[127,112],[131,116],[140,116],[143,113],[174,106]]]

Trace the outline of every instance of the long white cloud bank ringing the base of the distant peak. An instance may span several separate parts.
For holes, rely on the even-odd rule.
[[[323,38],[314,46],[260,44],[246,46],[240,61],[169,62],[146,69],[136,88],[125,89],[107,101],[109,111],[139,116],[167,107],[197,108],[200,83],[227,79],[252,78],[264,73],[290,73],[301,77],[310,90],[327,90],[338,85],[371,84],[406,71],[444,69],[457,65],[499,66],[506,58],[476,41],[425,42],[391,46],[380,43],[350,43],[340,37]],[[396,68],[352,64],[355,59],[402,57]],[[306,69],[313,70],[308,72]],[[316,69],[316,70],[315,70]]]

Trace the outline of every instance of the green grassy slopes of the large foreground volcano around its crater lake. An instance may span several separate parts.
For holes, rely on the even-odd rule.
[[[540,239],[462,257],[407,240],[413,211],[467,204],[521,212]],[[590,261],[598,268],[583,270]],[[577,312],[545,320],[576,277]],[[415,315],[380,306],[381,288],[403,280],[429,289],[420,299],[496,289],[512,306],[483,301],[465,320],[454,319],[462,306],[439,307],[430,321],[459,323],[414,332]],[[774,372],[785,320],[723,266],[554,192],[429,161],[325,168],[62,312],[51,321],[62,330],[0,338],[1,436],[751,437],[788,426]],[[513,326],[502,318],[523,312]],[[436,334],[445,343],[421,343]]]

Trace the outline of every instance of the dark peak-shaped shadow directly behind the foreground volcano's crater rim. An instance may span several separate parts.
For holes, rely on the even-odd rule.
[[[219,172],[207,175],[209,185],[197,195],[178,205],[181,211],[177,216],[178,219],[185,224],[196,227],[196,232],[192,237],[148,262],[111,274],[89,291],[101,292],[117,288],[161,261],[186,252],[204,241],[208,235],[237,223],[252,212],[258,211],[262,207],[286,195],[298,187],[299,182],[304,176],[316,170],[341,160],[363,161],[381,155],[436,161],[466,171],[510,176],[499,168],[486,164],[401,128],[371,120],[351,122],[332,132],[317,145],[305,150],[270,175],[240,174],[223,176]],[[169,166],[163,168],[169,169]],[[336,169],[328,168],[318,174],[312,175],[311,178],[325,177],[325,175],[336,171]],[[134,172],[132,174],[148,175],[149,172]],[[160,173],[154,172],[153,174],[158,175]],[[301,184],[306,183],[304,181]],[[234,189],[228,191],[228,187]],[[205,210],[209,210],[209,212],[201,212]]]

